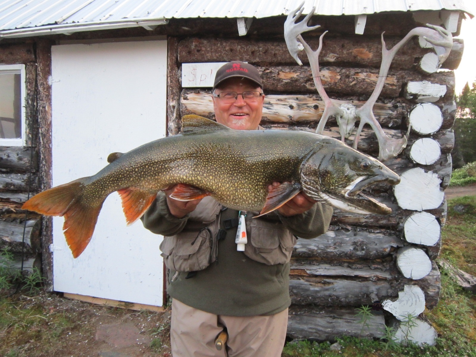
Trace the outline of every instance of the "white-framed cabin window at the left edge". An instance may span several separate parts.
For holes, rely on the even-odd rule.
[[[0,65],[0,145],[25,145],[25,65]]]

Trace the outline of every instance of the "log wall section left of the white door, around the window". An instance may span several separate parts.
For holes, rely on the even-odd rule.
[[[34,43],[0,44],[0,63],[25,65],[27,141],[25,147],[0,147],[0,250],[13,254],[10,267],[31,271],[41,268],[41,218],[27,215],[21,205],[40,190]]]

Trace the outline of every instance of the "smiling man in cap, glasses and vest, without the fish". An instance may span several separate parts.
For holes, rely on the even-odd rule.
[[[255,67],[233,61],[218,69],[213,87],[218,123],[256,130],[263,103],[263,85]],[[269,189],[279,184],[274,182]],[[248,243],[242,252],[235,244],[238,211],[223,208],[209,197],[174,200],[169,197],[173,189],[159,194],[142,219],[152,232],[173,236],[164,238],[161,250],[166,264],[180,270],[170,269],[168,288],[173,298],[170,336],[174,357],[281,356],[291,303],[293,235],[314,238],[324,233],[332,208],[299,193],[277,211],[248,219]],[[246,215],[251,218],[258,213]],[[214,261],[198,271],[182,270],[187,259],[197,254],[197,239],[207,229],[212,232],[207,237],[217,245],[212,250]],[[224,329],[228,341],[226,348],[218,350],[215,339]]]

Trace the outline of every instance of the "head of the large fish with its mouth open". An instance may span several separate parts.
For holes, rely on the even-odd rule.
[[[320,140],[303,160],[300,177],[310,198],[361,214],[390,214],[391,208],[361,191],[377,182],[400,182],[400,177],[377,159],[331,138]]]

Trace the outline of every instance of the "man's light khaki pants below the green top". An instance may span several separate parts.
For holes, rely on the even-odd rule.
[[[227,348],[215,338],[227,327]],[[288,327],[288,309],[271,316],[210,314],[172,300],[170,338],[173,357],[280,357]]]

